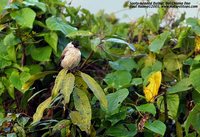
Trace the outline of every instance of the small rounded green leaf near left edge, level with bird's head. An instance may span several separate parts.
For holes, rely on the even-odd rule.
[[[20,39],[15,37],[13,33],[10,33],[5,36],[3,42],[4,42],[4,45],[6,46],[14,46],[20,43]]]

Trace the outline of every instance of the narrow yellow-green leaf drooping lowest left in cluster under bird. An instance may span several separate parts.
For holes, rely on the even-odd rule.
[[[38,122],[42,119],[44,110],[49,107],[51,101],[52,101],[52,99],[51,99],[51,97],[49,97],[37,107],[36,112],[33,115],[33,122],[32,123],[36,123],[36,122]]]

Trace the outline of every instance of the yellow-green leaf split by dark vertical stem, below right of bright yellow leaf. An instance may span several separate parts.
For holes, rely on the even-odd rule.
[[[161,112],[165,112],[163,96],[157,99],[157,106]],[[179,108],[179,96],[177,94],[167,95],[167,110],[168,115],[172,119],[176,119]]]

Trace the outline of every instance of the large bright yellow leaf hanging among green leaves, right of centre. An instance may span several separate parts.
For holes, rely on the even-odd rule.
[[[162,74],[160,71],[154,72],[148,78],[148,85],[144,87],[144,95],[147,102],[154,102],[155,96],[158,95],[162,80]]]

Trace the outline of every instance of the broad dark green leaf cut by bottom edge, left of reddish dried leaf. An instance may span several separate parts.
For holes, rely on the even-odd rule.
[[[109,128],[106,133],[112,137],[133,137],[137,134],[136,124],[118,124]]]

